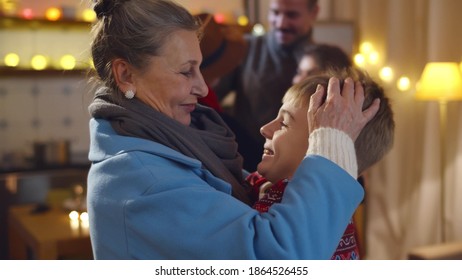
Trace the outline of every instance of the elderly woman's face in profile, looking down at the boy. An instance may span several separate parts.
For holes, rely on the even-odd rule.
[[[199,98],[208,93],[199,65],[202,54],[194,31],[172,33],[161,50],[143,71],[136,71],[133,83],[136,96],[157,111],[184,125]]]

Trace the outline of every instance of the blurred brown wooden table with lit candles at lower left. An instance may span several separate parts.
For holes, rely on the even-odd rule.
[[[34,207],[9,210],[10,259],[92,259],[88,225],[71,221],[69,211]]]

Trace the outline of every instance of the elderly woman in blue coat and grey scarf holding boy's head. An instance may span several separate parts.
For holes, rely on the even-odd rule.
[[[197,104],[207,86],[196,19],[168,0],[100,0],[94,9],[95,258],[329,259],[363,197],[345,169],[356,172],[353,140],[378,103],[362,112],[362,87],[346,82],[340,92],[335,79],[323,102],[320,87],[307,116],[316,144],[282,202],[259,214],[233,133]]]

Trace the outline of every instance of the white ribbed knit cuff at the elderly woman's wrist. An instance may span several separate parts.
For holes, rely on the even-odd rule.
[[[358,162],[353,140],[345,132],[321,127],[310,134],[306,155],[319,155],[333,161],[353,178],[358,177]]]

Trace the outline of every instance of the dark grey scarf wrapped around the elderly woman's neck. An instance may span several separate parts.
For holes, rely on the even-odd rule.
[[[120,135],[151,140],[199,160],[203,168],[232,185],[234,197],[250,203],[234,134],[215,110],[198,105],[191,125],[185,126],[137,98],[115,100],[108,88],[100,88],[89,111],[94,118],[108,120]]]

